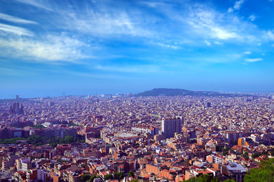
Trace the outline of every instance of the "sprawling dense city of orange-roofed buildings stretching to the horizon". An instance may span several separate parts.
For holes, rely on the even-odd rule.
[[[0,103],[1,181],[244,181],[274,156],[273,96],[60,96]]]

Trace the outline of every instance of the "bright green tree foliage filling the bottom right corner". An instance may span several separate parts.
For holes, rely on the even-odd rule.
[[[253,168],[245,175],[245,181],[274,181],[274,159],[261,161],[259,168]]]

